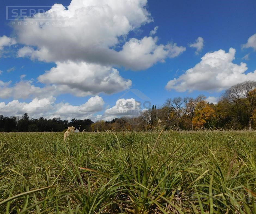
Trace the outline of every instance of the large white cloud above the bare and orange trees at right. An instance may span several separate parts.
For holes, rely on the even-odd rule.
[[[217,90],[221,91],[234,84],[246,81],[256,80],[256,70],[245,74],[248,69],[245,63],[234,64],[236,50],[229,49],[229,52],[223,50],[205,54],[201,62],[195,67],[188,69],[177,79],[170,80],[167,90],[176,90],[179,92],[193,90]]]

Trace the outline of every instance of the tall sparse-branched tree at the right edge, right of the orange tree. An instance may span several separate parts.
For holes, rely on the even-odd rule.
[[[248,128],[252,130],[253,112],[256,109],[256,81],[245,81],[231,86],[224,92],[222,98],[245,107],[249,114]]]

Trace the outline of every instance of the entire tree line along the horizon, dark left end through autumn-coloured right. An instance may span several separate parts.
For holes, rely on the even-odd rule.
[[[139,117],[121,117],[112,121],[90,119],[70,122],[53,119],[29,119],[0,116],[0,131],[44,132],[63,131],[74,126],[80,131],[150,131],[199,129],[249,129],[256,128],[256,81],[245,81],[227,89],[217,104],[208,103],[206,97],[175,97],[156,108],[142,111]]]

